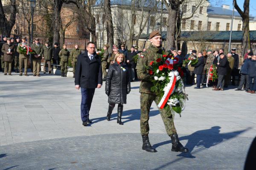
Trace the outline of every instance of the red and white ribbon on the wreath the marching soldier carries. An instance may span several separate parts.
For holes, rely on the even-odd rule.
[[[170,74],[172,74],[169,77],[170,82],[167,84],[166,91],[164,92],[162,99],[160,100],[160,102],[157,105],[157,107],[159,107],[160,109],[164,108],[164,106],[166,105],[166,102],[168,101],[170,95],[175,91],[176,76],[175,76],[173,71],[170,72]]]

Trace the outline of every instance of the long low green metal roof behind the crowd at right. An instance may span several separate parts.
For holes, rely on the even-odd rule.
[[[181,31],[181,40],[211,40],[211,41],[229,41],[230,31]],[[232,31],[232,41],[241,42],[243,31]],[[162,32],[162,38],[166,39],[166,31]],[[149,34],[141,34],[140,39],[149,39]],[[256,42],[256,31],[250,31],[250,41]]]

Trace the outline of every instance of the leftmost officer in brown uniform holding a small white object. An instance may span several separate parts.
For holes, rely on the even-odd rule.
[[[11,43],[11,38],[7,38],[7,42],[2,46],[3,61],[4,61],[4,75],[12,75],[12,57],[14,53],[14,45]]]

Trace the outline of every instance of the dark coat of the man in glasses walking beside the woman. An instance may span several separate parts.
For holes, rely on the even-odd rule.
[[[75,85],[80,85],[81,88],[97,88],[98,84],[102,85],[101,57],[95,52],[90,60],[86,51],[77,57]]]

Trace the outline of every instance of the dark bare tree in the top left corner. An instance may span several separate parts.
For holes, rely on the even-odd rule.
[[[6,10],[3,9],[3,3],[2,0],[0,0],[0,31],[8,37],[16,21],[16,12],[16,0],[10,0],[10,6]],[[9,20],[6,18],[6,13],[10,16]]]

